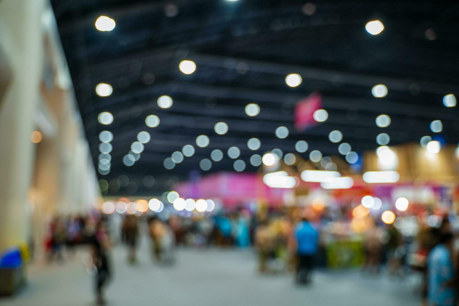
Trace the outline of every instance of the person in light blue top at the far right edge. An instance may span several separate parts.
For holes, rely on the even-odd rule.
[[[451,250],[453,235],[444,233],[440,244],[433,248],[427,259],[427,296],[429,305],[453,306],[455,290],[451,282],[454,277]]]

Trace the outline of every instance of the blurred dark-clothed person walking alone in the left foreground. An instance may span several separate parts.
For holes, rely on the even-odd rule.
[[[93,263],[97,271],[95,279],[97,305],[104,305],[103,288],[111,277],[111,269],[108,261],[108,251],[111,247],[111,242],[107,236],[104,223],[97,223],[95,233],[91,237],[91,246]]]

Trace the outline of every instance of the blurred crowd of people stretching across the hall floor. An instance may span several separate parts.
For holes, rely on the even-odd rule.
[[[341,211],[342,218],[347,215],[347,211]],[[103,288],[111,276],[109,250],[112,245],[126,245],[127,261],[137,264],[137,249],[145,236],[150,240],[151,258],[156,263],[173,264],[176,247],[252,246],[257,253],[260,273],[290,271],[297,284],[312,281],[314,266],[361,266],[363,273],[378,275],[385,264],[390,275],[403,277],[410,272],[422,275],[420,291],[425,305],[456,305],[458,298],[459,253],[448,218],[436,226],[421,221],[417,234],[409,237],[394,224],[384,224],[369,216],[369,225],[363,230],[349,230],[353,235],[350,238],[337,222],[340,218],[336,217],[336,211],[326,208],[320,213],[311,208],[279,207],[257,211],[222,210],[211,216],[171,214],[161,218],[156,214],[127,214],[119,217],[122,218],[119,230],[114,230],[111,216],[56,217],[49,224],[45,241],[49,261],[62,261],[64,246],[69,254],[74,253],[75,245],[91,246],[89,265],[96,272],[95,287],[100,304],[104,302]],[[338,248],[334,245],[346,239],[359,243],[353,244],[343,256],[345,253],[339,250],[346,243],[338,244]],[[341,260],[349,254],[350,260]]]

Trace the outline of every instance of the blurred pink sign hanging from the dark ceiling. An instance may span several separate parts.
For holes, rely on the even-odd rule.
[[[314,111],[322,108],[322,95],[319,93],[312,93],[308,98],[299,100],[295,106],[295,128],[297,131],[316,124],[314,120]]]

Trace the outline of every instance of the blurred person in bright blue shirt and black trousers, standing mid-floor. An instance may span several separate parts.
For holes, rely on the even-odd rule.
[[[297,282],[307,284],[313,268],[314,257],[317,253],[319,234],[305,218],[295,227],[297,240]]]

